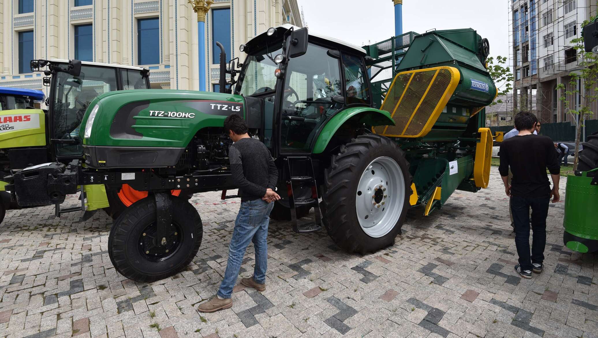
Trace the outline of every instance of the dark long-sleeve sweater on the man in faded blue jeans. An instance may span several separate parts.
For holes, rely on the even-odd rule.
[[[228,158],[241,201],[262,198],[267,188],[276,188],[278,170],[264,143],[249,137],[240,139],[228,150]]]

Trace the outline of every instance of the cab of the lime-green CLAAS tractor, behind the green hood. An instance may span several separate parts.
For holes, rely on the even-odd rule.
[[[44,72],[50,87],[46,100],[50,158],[68,162],[83,156],[81,119],[94,97],[115,90],[148,89],[149,69],[79,60],[32,60],[33,72]]]

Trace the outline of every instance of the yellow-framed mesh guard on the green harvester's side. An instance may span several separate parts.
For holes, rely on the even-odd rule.
[[[441,66],[398,73],[382,107],[395,125],[374,130],[389,137],[423,137],[443,112],[459,84],[459,70]]]

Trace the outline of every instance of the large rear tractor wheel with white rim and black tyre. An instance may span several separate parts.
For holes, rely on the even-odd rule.
[[[351,253],[392,245],[409,208],[410,185],[409,164],[392,140],[367,134],[341,146],[322,189],[328,235]]]

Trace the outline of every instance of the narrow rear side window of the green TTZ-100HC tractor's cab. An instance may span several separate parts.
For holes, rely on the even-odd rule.
[[[367,73],[361,57],[343,53],[342,59],[347,105],[352,103],[370,105],[370,88],[368,88]]]

